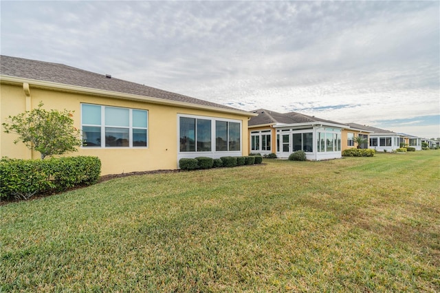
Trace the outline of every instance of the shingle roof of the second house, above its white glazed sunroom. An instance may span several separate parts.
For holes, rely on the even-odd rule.
[[[266,109],[258,109],[252,111],[258,113],[259,116],[250,118],[249,126],[262,125],[262,124],[296,124],[296,123],[308,123],[308,122],[325,122],[331,124],[343,124],[336,121],[325,120],[314,116],[307,116],[297,112],[278,113],[275,111],[269,111]]]

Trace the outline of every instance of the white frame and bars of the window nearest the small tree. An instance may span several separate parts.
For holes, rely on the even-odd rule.
[[[100,124],[83,124],[83,105],[91,105],[100,107],[101,111],[101,121]],[[115,109],[128,109],[129,110],[129,126],[128,127],[120,127],[113,125],[105,124],[105,109],[106,108],[115,108]],[[146,112],[146,127],[133,127],[133,110],[145,111]],[[81,133],[83,133],[83,127],[100,127],[101,129],[101,145],[100,146],[81,146],[83,149],[148,149],[149,138],[148,138],[148,117],[149,113],[146,109],[135,109],[135,108],[127,108],[127,107],[115,107],[115,106],[107,106],[107,105],[97,105],[90,104],[88,102],[80,103],[80,111],[81,111]],[[106,127],[111,128],[120,128],[120,129],[129,129],[129,146],[105,146],[105,129]],[[144,129],[146,130],[146,146],[133,146],[133,129]],[[87,143],[87,142],[86,142]]]

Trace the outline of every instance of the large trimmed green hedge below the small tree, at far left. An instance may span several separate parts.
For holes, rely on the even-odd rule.
[[[46,160],[0,160],[0,198],[29,199],[32,195],[66,191],[99,180],[101,161],[78,156]]]

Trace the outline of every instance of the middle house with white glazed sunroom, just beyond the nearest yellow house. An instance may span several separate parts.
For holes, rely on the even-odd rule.
[[[251,153],[276,153],[278,158],[288,158],[294,151],[303,150],[307,160],[342,157],[342,129],[349,128],[347,124],[296,112],[257,109],[252,113],[258,116],[248,123]]]

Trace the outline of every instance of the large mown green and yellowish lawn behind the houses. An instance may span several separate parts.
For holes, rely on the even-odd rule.
[[[439,151],[263,163],[1,206],[1,289],[440,291]]]

